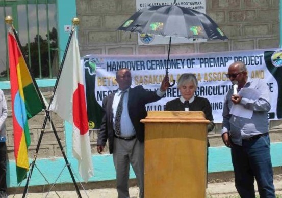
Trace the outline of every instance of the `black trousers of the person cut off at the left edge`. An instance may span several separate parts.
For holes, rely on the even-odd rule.
[[[6,142],[0,142],[0,191],[6,191],[6,170],[7,170],[7,146]]]

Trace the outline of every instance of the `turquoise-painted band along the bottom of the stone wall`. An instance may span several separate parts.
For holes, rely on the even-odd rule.
[[[70,128],[67,128],[68,130]],[[67,130],[67,131],[68,131]],[[71,133],[67,137],[71,137]],[[271,159],[273,167],[282,166],[282,143],[271,144]],[[181,151],[178,151],[181,152]],[[75,178],[81,178],[78,173],[78,162],[72,156],[68,156],[68,161],[71,164],[71,169],[74,175],[78,176]],[[32,160],[30,160],[32,162]],[[114,180],[115,168],[113,164],[112,155],[93,155],[92,162],[94,167],[94,177],[90,178],[91,181],[106,181]],[[51,158],[51,159],[38,159],[36,161],[36,167],[46,177],[49,183],[54,183],[59,177],[57,183],[72,183],[70,174],[67,167],[65,167],[65,161],[63,158]],[[47,182],[43,176],[39,173],[37,168],[34,168],[30,185],[46,185]],[[233,171],[230,149],[227,147],[211,147],[209,148],[209,173]],[[16,187],[16,164],[15,161],[10,161],[7,170],[7,184],[8,187]],[[61,175],[60,175],[61,174]],[[131,169],[130,177],[135,178],[134,172]],[[24,180],[21,186],[25,185]],[[81,180],[82,181],[82,180]]]

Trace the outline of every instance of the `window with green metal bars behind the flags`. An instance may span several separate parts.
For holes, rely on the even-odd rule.
[[[12,16],[23,54],[35,78],[55,78],[59,70],[56,0],[0,1],[0,16]],[[2,17],[1,17],[2,18]],[[0,21],[0,80],[9,80],[7,32]]]

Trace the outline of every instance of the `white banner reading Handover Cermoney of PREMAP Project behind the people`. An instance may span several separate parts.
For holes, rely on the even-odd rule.
[[[101,106],[103,98],[118,88],[115,81],[116,71],[124,67],[131,70],[132,87],[143,85],[145,89],[157,90],[165,75],[166,56],[85,56],[86,76],[92,75],[95,81],[94,90],[87,90],[87,94],[94,94],[96,101]],[[171,83],[173,80],[176,83],[167,90],[164,98],[148,104],[147,110],[165,110],[166,102],[181,96],[176,87],[180,75],[193,73],[198,79],[195,95],[208,98],[212,105],[215,123],[222,122],[224,96],[232,87],[225,74],[228,72],[229,65],[237,60],[245,62],[250,78],[261,78],[268,84],[272,98],[269,119],[282,118],[282,52],[280,49],[171,55],[168,63],[168,76]]]

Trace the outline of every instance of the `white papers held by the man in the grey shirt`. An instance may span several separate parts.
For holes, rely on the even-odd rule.
[[[244,98],[251,99],[251,100],[257,100],[260,96],[260,92],[253,88],[242,88],[238,95],[241,95]],[[230,109],[230,114],[239,116],[242,118],[248,118],[251,119],[253,110],[246,109],[242,105],[235,105],[233,104]]]

